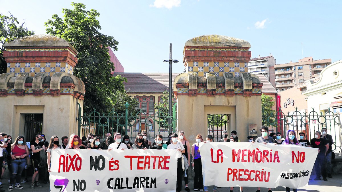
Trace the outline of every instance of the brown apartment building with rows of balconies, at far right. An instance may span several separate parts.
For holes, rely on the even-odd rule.
[[[287,90],[304,83],[306,80],[319,77],[321,70],[331,64],[331,59],[313,60],[312,57],[304,57],[298,62],[276,64],[275,84],[278,92]]]

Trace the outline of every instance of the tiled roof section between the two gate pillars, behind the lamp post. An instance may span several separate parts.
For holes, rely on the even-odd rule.
[[[180,73],[172,73],[173,81]],[[169,73],[114,73],[127,79],[125,90],[130,92],[160,93],[169,89]]]

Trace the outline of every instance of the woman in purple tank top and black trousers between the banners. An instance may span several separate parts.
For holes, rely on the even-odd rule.
[[[194,167],[194,191],[203,191],[203,175],[202,175],[202,160],[199,153],[199,143],[203,142],[201,134],[196,136],[196,143],[191,147],[191,154],[193,154],[192,166]]]

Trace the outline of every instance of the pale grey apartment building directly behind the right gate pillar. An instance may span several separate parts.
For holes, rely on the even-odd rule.
[[[248,62],[248,72],[253,74],[264,74],[269,82],[275,87],[274,65],[276,60],[272,54],[266,57],[251,58]]]

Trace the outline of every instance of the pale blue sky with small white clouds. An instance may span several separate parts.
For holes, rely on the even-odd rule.
[[[74,0],[74,2],[80,2]],[[11,11],[27,27],[44,34],[52,14],[63,16],[71,1],[1,1],[0,13]],[[201,35],[247,40],[252,57],[268,56],[277,64],[341,56],[342,1],[113,0],[84,1],[100,13],[101,32],[115,37],[114,52],[125,72],[168,72],[169,43],[173,72],[184,70],[184,43]]]

